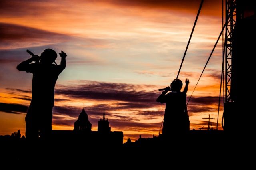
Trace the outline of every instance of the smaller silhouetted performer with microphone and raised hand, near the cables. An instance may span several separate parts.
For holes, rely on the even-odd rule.
[[[174,135],[182,136],[189,131],[189,119],[186,110],[186,93],[188,91],[189,80],[186,79],[185,83],[184,91],[181,92],[182,81],[180,79],[174,79],[170,87],[166,87],[156,99],[157,102],[166,103],[162,128],[162,135],[164,137]],[[170,92],[167,93],[168,91]]]

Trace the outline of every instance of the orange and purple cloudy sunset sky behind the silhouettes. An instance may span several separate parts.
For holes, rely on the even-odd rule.
[[[157,136],[165,109],[165,104],[156,102],[158,89],[178,75],[200,3],[1,0],[0,135],[18,130],[25,135],[32,74],[16,66],[31,57],[27,49],[40,55],[51,48],[68,55],[55,87],[54,130],[73,130],[84,108],[93,131],[105,111],[111,131],[122,131],[124,142],[140,135]],[[178,75],[184,85],[186,78],[190,81],[190,129],[207,128],[204,118],[210,115],[211,127],[216,128],[218,121],[223,130],[223,90],[218,112],[222,37],[210,57],[222,24],[222,0],[204,0]],[[56,63],[60,64],[60,56]]]

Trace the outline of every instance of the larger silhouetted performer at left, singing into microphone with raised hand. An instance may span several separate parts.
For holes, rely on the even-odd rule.
[[[60,65],[53,64],[57,53],[45,49],[41,56],[33,55],[22,61],[17,69],[33,74],[32,99],[25,117],[26,139],[49,139],[52,133],[52,108],[54,106],[54,88],[59,74],[66,67],[66,53],[61,51]]]

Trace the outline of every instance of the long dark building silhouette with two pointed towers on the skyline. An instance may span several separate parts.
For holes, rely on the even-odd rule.
[[[105,110],[103,119],[98,121],[98,131],[92,131],[92,124],[84,108],[74,122],[74,130],[52,130],[52,134],[53,140],[57,142],[83,143],[90,146],[121,146],[124,138],[122,131],[111,131],[109,121],[105,119]]]

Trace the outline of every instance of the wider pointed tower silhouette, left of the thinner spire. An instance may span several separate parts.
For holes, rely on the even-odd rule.
[[[92,131],[92,124],[88,120],[88,115],[85,112],[84,108],[82,112],[79,114],[77,121],[74,123],[74,130],[83,130],[86,132]]]

